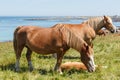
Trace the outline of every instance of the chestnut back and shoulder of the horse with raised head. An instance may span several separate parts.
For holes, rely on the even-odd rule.
[[[69,31],[71,31],[72,33],[74,33],[75,35],[78,35],[81,38],[92,38],[94,39],[96,34],[94,29],[89,26],[87,23],[82,23],[82,24],[56,24],[54,26],[54,28],[66,28],[69,29]]]

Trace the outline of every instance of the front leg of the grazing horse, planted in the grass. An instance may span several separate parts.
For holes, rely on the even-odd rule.
[[[62,74],[60,65],[62,63],[63,55],[64,55],[63,53],[57,53],[57,62],[56,62],[56,65],[54,67],[54,70],[59,72],[60,74]]]

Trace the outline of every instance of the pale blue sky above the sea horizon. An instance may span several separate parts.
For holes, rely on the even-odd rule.
[[[120,0],[0,0],[0,16],[120,15]]]

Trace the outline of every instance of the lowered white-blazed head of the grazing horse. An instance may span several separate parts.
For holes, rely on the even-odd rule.
[[[84,44],[81,48],[81,61],[85,64],[89,72],[95,71],[93,46]]]

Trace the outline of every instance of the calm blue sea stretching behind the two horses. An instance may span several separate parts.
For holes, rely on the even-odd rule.
[[[51,27],[58,23],[80,24],[86,18],[78,16],[0,16],[0,42],[12,41],[14,30],[18,26],[32,25]],[[120,22],[113,22],[120,26]]]

